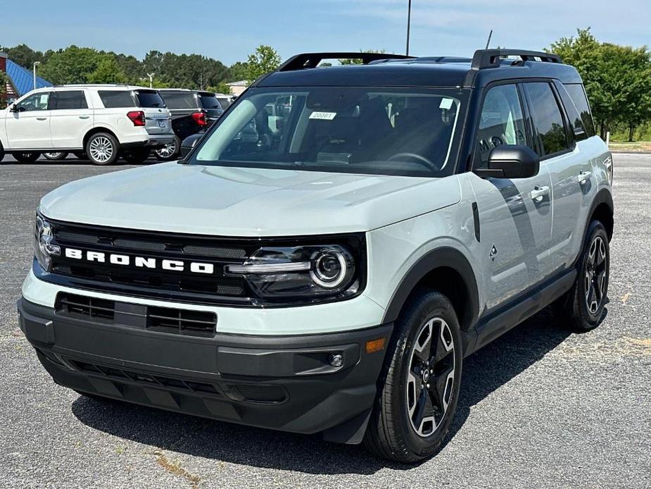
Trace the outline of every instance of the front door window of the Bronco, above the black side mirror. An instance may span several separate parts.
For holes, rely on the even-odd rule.
[[[522,104],[516,85],[492,87],[483,98],[475,168],[485,168],[491,149],[501,144],[526,144]]]

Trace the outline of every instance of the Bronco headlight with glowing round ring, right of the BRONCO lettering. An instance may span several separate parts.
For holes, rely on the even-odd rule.
[[[349,297],[360,287],[353,254],[339,244],[263,247],[226,272],[244,276],[265,299]]]

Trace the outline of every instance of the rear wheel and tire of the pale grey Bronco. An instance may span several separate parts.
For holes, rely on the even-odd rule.
[[[574,285],[555,302],[563,326],[588,331],[600,325],[607,303],[610,275],[608,233],[600,221],[592,221],[577,265]]]

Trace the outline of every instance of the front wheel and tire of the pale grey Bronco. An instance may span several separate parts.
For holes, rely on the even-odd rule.
[[[436,338],[433,351],[428,338]],[[422,369],[425,357],[429,372]],[[448,298],[436,291],[412,297],[396,321],[386,353],[364,438],[367,450],[406,463],[438,452],[457,407],[462,357],[459,321]]]

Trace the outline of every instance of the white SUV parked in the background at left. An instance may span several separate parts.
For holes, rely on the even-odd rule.
[[[129,85],[63,85],[34,90],[0,111],[0,160],[32,163],[72,152],[96,165],[147,159],[174,141],[170,112],[156,90]]]

